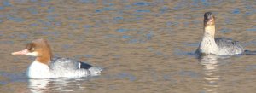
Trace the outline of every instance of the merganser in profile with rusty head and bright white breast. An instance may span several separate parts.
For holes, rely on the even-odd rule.
[[[80,78],[99,75],[101,67],[74,61],[68,58],[52,57],[47,40],[37,39],[26,45],[26,49],[13,52],[12,55],[31,55],[37,57],[28,67],[28,78]]]

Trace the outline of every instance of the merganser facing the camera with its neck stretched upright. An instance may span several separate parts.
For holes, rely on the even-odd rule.
[[[241,44],[227,38],[214,38],[215,17],[211,12],[204,15],[204,36],[195,51],[197,55],[238,55],[244,52]]]

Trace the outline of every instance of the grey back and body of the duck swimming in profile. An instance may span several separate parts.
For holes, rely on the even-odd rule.
[[[55,77],[79,78],[94,75],[93,73],[100,73],[102,71],[100,67],[96,67],[98,69],[95,69],[90,64],[61,57],[53,58],[49,68]]]

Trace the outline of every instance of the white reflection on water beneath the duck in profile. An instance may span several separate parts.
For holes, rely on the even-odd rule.
[[[71,92],[84,90],[82,83],[89,78],[45,78],[45,79],[28,79],[28,89],[32,93],[45,92]],[[83,82],[81,82],[83,81]]]

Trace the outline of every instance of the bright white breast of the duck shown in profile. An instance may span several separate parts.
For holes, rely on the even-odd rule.
[[[50,78],[49,66],[37,60],[27,68],[26,75],[28,78]]]

